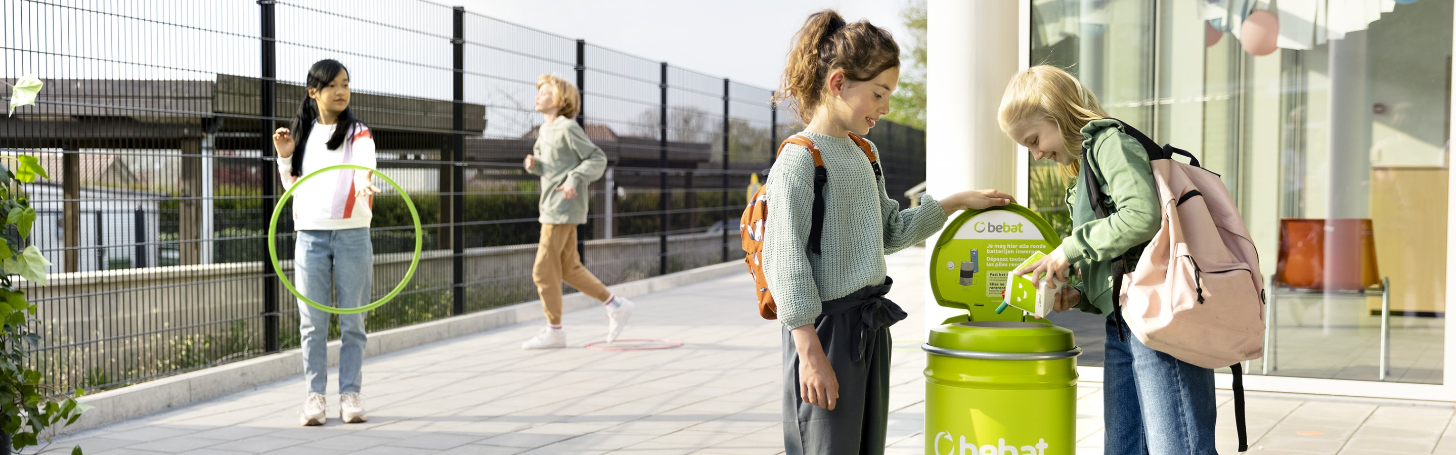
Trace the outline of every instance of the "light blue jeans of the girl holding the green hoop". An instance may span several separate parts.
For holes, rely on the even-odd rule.
[[[357,308],[374,288],[374,244],[368,228],[298,231],[294,244],[294,285],[309,299],[329,307]],[[338,295],[338,301],[332,297]],[[329,313],[298,301],[303,334],[303,379],[312,394],[329,384]],[[339,314],[339,392],[357,392],[364,381],[364,313]]]

